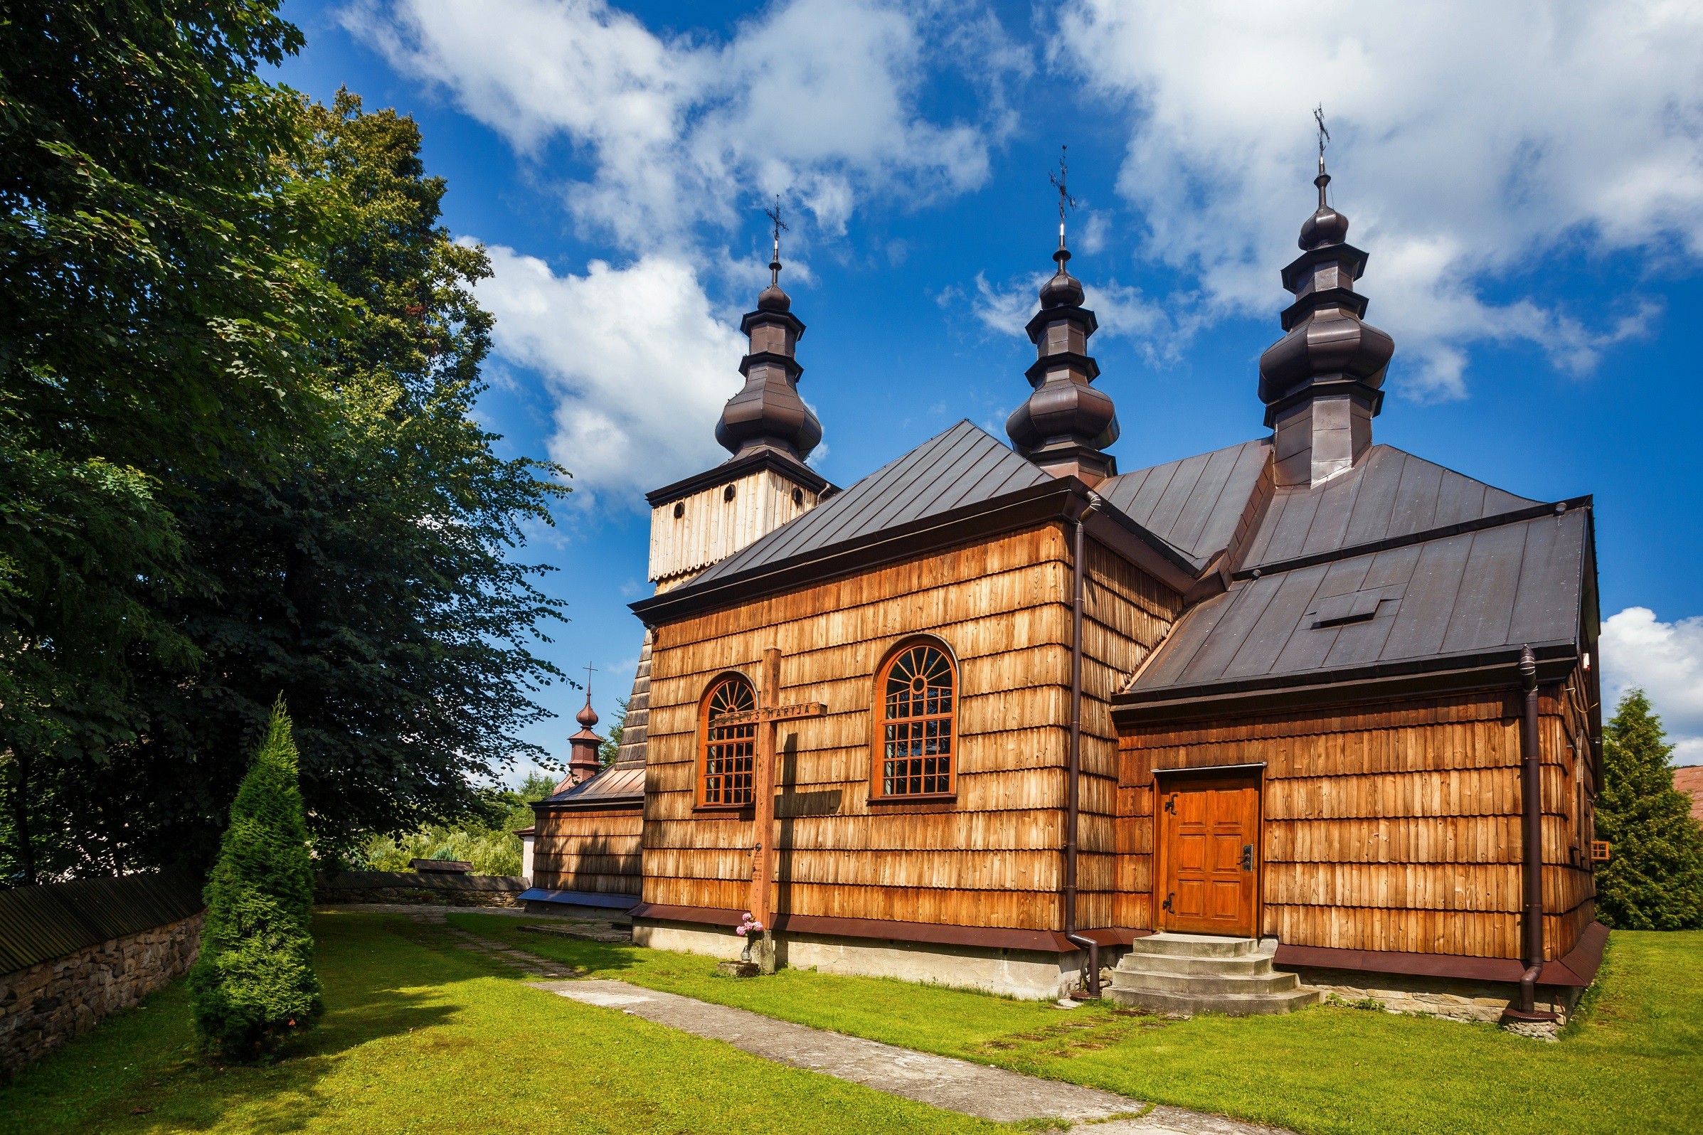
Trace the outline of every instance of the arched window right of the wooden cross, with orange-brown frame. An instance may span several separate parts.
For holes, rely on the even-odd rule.
[[[957,669],[938,643],[901,647],[875,676],[875,796],[954,791]]]

